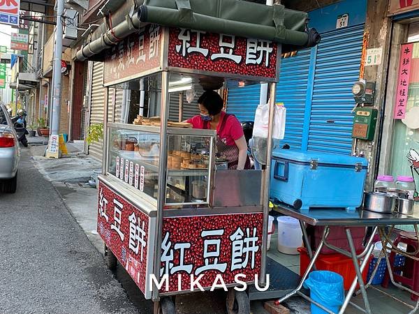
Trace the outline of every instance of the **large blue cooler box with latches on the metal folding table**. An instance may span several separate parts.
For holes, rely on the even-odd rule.
[[[276,149],[272,154],[270,197],[295,209],[360,207],[367,159],[320,152]]]

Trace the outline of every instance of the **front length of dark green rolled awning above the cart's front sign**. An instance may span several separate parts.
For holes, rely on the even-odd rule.
[[[275,43],[309,43],[307,13],[240,0],[145,0],[138,20],[167,27],[228,33]]]

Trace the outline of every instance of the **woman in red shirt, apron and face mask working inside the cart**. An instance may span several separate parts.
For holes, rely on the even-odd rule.
[[[193,128],[216,130],[216,149],[228,160],[228,169],[250,169],[247,143],[242,125],[232,114],[223,112],[223,98],[216,91],[205,91],[198,99],[200,114],[186,122]]]

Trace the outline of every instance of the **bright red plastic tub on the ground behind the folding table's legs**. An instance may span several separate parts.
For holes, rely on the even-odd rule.
[[[298,252],[300,252],[300,276],[302,276],[307,270],[307,267],[309,267],[310,258],[306,248],[298,248]],[[318,255],[316,268],[317,270],[335,271],[335,273],[344,277],[345,290],[349,290],[353,278],[356,276],[352,259],[339,253]],[[364,271],[362,271],[364,282],[367,281],[367,274],[368,267],[365,267]]]

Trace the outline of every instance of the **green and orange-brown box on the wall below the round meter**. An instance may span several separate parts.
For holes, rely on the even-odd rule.
[[[360,140],[374,140],[378,110],[367,107],[355,109],[353,117],[352,137]]]

